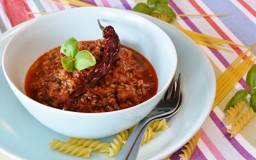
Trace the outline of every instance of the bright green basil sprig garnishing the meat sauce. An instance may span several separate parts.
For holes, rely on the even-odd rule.
[[[89,51],[78,52],[78,43],[74,37],[61,44],[60,52],[67,56],[61,59],[62,67],[70,72],[73,72],[74,68],[80,71],[96,64],[94,56]]]

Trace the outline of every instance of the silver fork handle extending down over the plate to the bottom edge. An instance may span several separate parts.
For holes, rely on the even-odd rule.
[[[140,121],[140,123],[132,131],[132,134],[129,136],[128,140],[120,150],[119,154],[116,156],[115,160],[128,160],[128,157],[130,156],[130,150],[134,147],[140,132],[142,132],[144,126],[148,124],[150,120],[151,118],[144,118],[142,121]]]

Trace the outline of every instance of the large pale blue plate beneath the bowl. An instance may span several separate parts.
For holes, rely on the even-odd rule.
[[[140,148],[138,154],[138,160],[160,160],[188,142],[208,117],[216,92],[215,75],[204,52],[188,36],[161,20],[137,14],[154,22],[170,36],[178,54],[177,73],[182,73],[181,109],[168,122],[170,128],[158,132],[156,137]],[[24,22],[0,36],[0,59],[10,38],[32,21]],[[22,53],[20,54],[22,56]],[[2,64],[0,66],[2,67]],[[50,149],[48,143],[52,138],[66,140],[67,137],[38,122],[12,92],[4,78],[2,68],[0,75],[0,151],[22,160],[82,160]],[[100,140],[111,142],[113,138],[115,136]],[[106,158],[104,154],[92,152],[89,159],[114,160],[114,157]]]

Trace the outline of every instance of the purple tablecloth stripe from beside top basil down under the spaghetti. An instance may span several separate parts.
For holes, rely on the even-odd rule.
[[[182,12],[182,10],[180,10],[180,8],[178,8],[178,6],[172,1],[170,0],[170,6],[172,7],[172,9],[175,10],[175,12],[177,14],[184,14],[184,12]],[[188,19],[188,17],[182,17],[182,19],[184,20],[184,22],[194,31],[194,32],[198,32],[198,33],[202,33],[197,27],[196,25],[190,20]],[[209,47],[208,47],[209,48]],[[215,50],[213,48],[209,48],[209,50],[214,54],[214,56],[216,56],[216,58],[218,58],[218,60],[220,60],[220,62],[226,67],[228,68],[228,66],[230,66],[230,63],[220,54],[220,52],[218,50]],[[238,81],[241,86],[243,88],[248,89],[248,86],[245,83],[245,80],[242,78],[240,81]]]

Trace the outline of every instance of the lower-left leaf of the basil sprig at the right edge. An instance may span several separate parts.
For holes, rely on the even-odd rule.
[[[237,102],[240,102],[241,100],[244,100],[248,93],[248,90],[238,90],[236,94],[228,101],[224,108],[224,111],[226,112],[231,106],[233,106]]]

